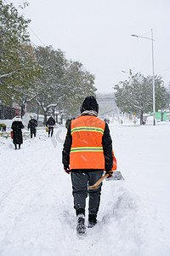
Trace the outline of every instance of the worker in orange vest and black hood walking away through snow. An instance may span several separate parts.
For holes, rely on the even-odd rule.
[[[94,96],[87,96],[82,102],[81,116],[71,120],[67,130],[62,163],[64,170],[71,173],[74,208],[77,214],[77,233],[84,234],[86,198],[88,201],[88,227],[97,224],[101,195],[99,189],[89,190],[105,170],[112,176],[116,170],[116,158],[112,150],[109,126],[99,119],[99,105]]]

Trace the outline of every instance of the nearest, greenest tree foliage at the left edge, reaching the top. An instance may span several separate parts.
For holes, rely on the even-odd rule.
[[[12,3],[0,1],[0,9],[0,98],[6,103],[20,102],[24,92],[30,94],[39,72],[27,32],[30,20],[19,15]]]

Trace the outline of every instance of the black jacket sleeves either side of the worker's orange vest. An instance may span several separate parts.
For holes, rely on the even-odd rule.
[[[64,148],[62,152],[62,162],[65,167],[68,167],[70,164],[71,144],[72,144],[72,136],[71,136],[71,125],[70,125],[67,130],[67,135],[65,137],[65,143],[64,143]],[[107,123],[105,123],[105,131],[102,137],[102,145],[103,145],[104,156],[105,156],[105,171],[111,171],[113,167],[112,141],[111,141],[109,126],[107,125]],[[83,171],[89,171],[89,170],[83,170]]]

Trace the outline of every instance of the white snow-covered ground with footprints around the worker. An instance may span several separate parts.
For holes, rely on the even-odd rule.
[[[53,139],[24,130],[20,150],[0,137],[1,256],[170,255],[170,123],[110,130],[126,180],[103,183],[99,223],[82,239],[61,164],[65,127]]]

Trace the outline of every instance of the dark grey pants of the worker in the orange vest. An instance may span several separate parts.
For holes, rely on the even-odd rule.
[[[79,212],[79,209],[83,209],[85,212],[86,198],[89,196],[88,214],[97,215],[101,184],[99,185],[99,189],[94,190],[89,190],[88,186],[94,185],[102,175],[103,171],[71,172],[72,195],[74,197],[74,208],[77,212]]]

